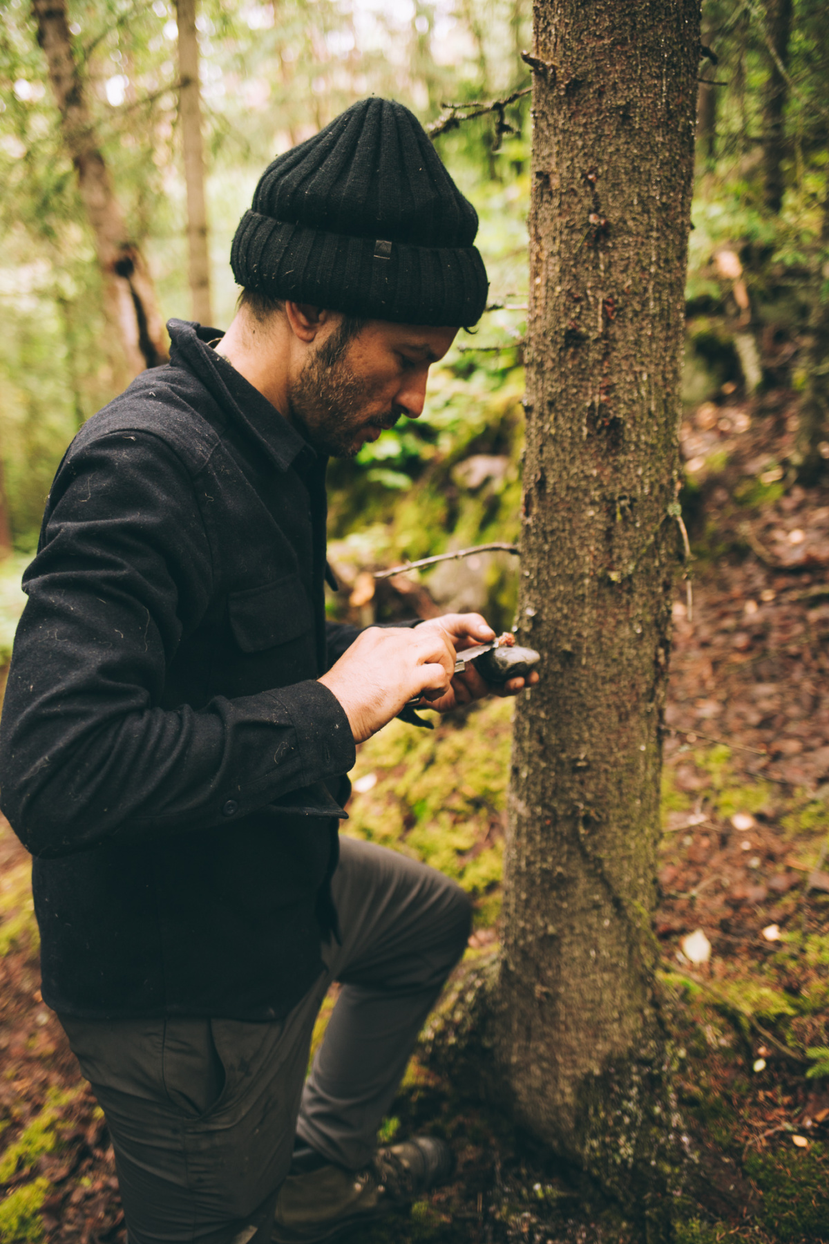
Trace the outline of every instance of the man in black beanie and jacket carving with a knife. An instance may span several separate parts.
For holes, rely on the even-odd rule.
[[[455,651],[492,631],[326,623],[324,470],[420,414],[485,306],[476,229],[414,116],[355,104],[265,172],[227,333],[172,321],[170,364],[58,468],[2,807],[36,857],[44,999],[107,1116],[131,1244],[328,1239],[449,1173],[442,1142],[375,1135],[469,903],[337,831],[354,744],[418,697],[486,694]]]

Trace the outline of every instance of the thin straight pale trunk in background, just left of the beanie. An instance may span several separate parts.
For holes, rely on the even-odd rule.
[[[179,26],[179,117],[184,149],[184,182],[188,192],[188,251],[190,256],[190,294],[193,318],[213,323],[210,306],[210,254],[208,248],[208,207],[204,194],[204,142],[201,138],[201,96],[199,91],[199,36],[195,26],[196,0],[176,0]]]

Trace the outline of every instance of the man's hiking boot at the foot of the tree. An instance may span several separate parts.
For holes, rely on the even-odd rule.
[[[452,1173],[452,1151],[434,1136],[379,1148],[363,1171],[333,1164],[288,1174],[273,1218],[276,1244],[317,1244],[411,1204]]]

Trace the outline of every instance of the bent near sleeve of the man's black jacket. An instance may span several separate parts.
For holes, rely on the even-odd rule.
[[[211,582],[193,479],[163,440],[72,449],[25,576],[0,722],[0,802],[34,855],[230,829],[354,764],[346,713],[314,680],[159,707]]]

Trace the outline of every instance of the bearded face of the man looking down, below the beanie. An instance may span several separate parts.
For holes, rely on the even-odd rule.
[[[423,412],[431,363],[457,328],[369,320],[355,336],[337,322],[288,386],[290,417],[321,454],[353,458],[400,415]]]

